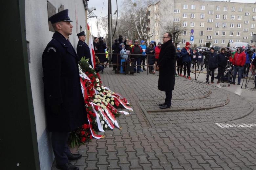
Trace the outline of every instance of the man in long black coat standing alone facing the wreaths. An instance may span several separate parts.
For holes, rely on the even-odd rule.
[[[172,91],[174,90],[175,77],[175,54],[176,50],[172,43],[172,35],[169,32],[163,34],[163,44],[158,59],[159,70],[158,89],[165,92],[165,101],[159,104],[160,109],[171,107]]]

